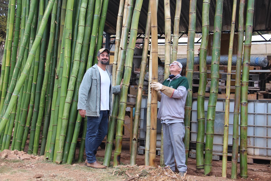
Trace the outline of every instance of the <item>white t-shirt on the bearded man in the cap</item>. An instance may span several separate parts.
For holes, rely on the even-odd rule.
[[[98,66],[101,75],[101,105],[100,110],[109,110],[110,78],[107,71]]]

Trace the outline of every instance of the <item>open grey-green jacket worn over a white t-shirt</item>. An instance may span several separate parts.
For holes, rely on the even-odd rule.
[[[109,94],[109,116],[112,113],[112,94],[120,94],[120,85],[112,86],[112,76],[106,69],[111,85]],[[82,80],[78,93],[78,110],[86,110],[86,116],[100,116],[101,78],[97,64],[89,68]]]

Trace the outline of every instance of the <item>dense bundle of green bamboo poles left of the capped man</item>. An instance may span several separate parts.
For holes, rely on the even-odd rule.
[[[30,133],[29,154],[72,163],[83,121],[78,89],[102,46],[107,6],[108,0],[9,1],[0,79],[1,150],[24,150]],[[83,130],[79,161],[86,119]]]

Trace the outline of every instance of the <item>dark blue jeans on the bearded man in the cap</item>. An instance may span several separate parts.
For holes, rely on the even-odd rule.
[[[88,163],[96,161],[97,149],[107,135],[108,129],[107,110],[100,111],[100,117],[88,116],[86,132],[86,156]]]

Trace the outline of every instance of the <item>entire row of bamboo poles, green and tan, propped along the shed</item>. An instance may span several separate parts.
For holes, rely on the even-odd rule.
[[[170,1],[164,1],[165,7],[165,78],[168,65],[176,59],[178,51],[178,30],[181,1],[176,2],[174,33],[171,34]],[[236,1],[234,7],[236,8]],[[136,43],[139,15],[142,0],[121,0],[117,19],[116,50],[113,66],[113,85],[118,85],[124,74],[123,88],[120,95],[114,96],[113,112],[110,117],[107,135],[104,165],[109,166],[114,130],[116,130],[116,147],[114,166],[120,164],[122,146],[122,129],[126,107],[126,97],[132,69],[132,57]],[[135,121],[133,125],[131,164],[136,164],[136,149],[143,79],[147,66],[149,37],[151,41],[150,81],[157,81],[157,0],[149,3],[146,23],[144,51],[142,55],[139,91],[136,100]],[[194,38],[196,26],[196,0],[190,1],[188,30],[188,62],[186,75],[190,82],[189,94],[185,106],[185,150],[189,151],[190,112],[192,106],[192,75],[194,58]],[[86,137],[86,118],[77,112],[78,89],[87,68],[97,63],[96,54],[102,46],[103,29],[107,14],[108,0],[9,0],[7,36],[2,60],[0,77],[0,148],[24,150],[30,134],[28,153],[45,155],[48,161],[71,164],[73,161],[79,130],[83,126],[83,135],[78,161],[83,161]],[[211,95],[207,111],[207,136],[205,163],[204,147],[204,94],[206,87],[206,53],[209,33],[210,0],[203,1],[203,33],[200,49],[200,87],[198,94],[198,137],[197,168],[204,168],[206,175],[212,170],[212,148],[214,133],[215,106],[218,94],[220,35],[222,25],[223,1],[216,1],[215,32],[212,57]],[[240,2],[239,12],[244,12],[245,1]],[[236,178],[238,154],[238,116],[241,97],[241,176],[247,177],[246,166],[246,132],[247,132],[247,82],[251,31],[253,23],[254,1],[248,1],[246,41],[242,85],[236,81],[235,121],[233,142],[232,178]],[[232,32],[235,11],[232,15]],[[16,18],[15,18],[16,14]],[[243,38],[244,15],[239,13],[239,37]],[[130,32],[130,35],[129,35]],[[233,35],[233,33],[232,33]],[[170,55],[171,37],[173,37],[172,55]],[[129,44],[127,44],[129,40]],[[20,43],[19,43],[20,42]],[[232,41],[231,41],[232,43]],[[230,46],[230,53],[232,45]],[[238,45],[238,70],[240,73],[243,40]],[[88,55],[88,56],[87,56]],[[125,65],[125,68],[124,68]],[[230,65],[230,64],[229,64]],[[230,67],[230,66],[229,66]],[[124,70],[124,72],[123,72]],[[230,71],[230,69],[229,69]],[[239,76],[240,77],[240,76]],[[240,89],[241,87],[241,89]],[[157,91],[148,94],[148,124],[146,138],[146,165],[155,164],[156,155],[156,121]],[[227,90],[227,93],[228,90]],[[227,99],[228,104],[228,99]],[[120,108],[119,108],[120,106]],[[227,105],[228,106],[228,105]],[[225,117],[225,135],[228,134],[228,116]],[[83,124],[82,124],[83,121]],[[42,134],[42,136],[40,136]],[[12,139],[11,139],[12,138]],[[41,146],[39,142],[41,140]],[[227,155],[225,138],[224,158]],[[40,150],[39,150],[40,147]],[[162,151],[163,153],[163,151]],[[161,165],[164,164],[161,157]],[[205,165],[204,165],[205,164]],[[226,168],[226,165],[223,165]],[[225,170],[223,176],[226,176]]]

